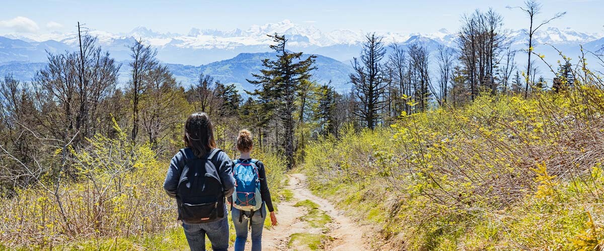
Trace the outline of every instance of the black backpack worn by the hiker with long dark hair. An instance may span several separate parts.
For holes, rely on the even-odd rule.
[[[198,158],[190,148],[181,152],[185,165],[176,188],[178,220],[199,224],[224,217],[224,191],[214,164],[222,150],[212,149],[207,158]]]

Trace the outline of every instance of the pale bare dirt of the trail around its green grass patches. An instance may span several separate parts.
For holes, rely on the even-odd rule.
[[[304,245],[294,244],[288,247],[294,234],[326,237],[323,238],[324,244],[319,249],[370,250],[363,236],[366,231],[345,217],[344,212],[336,209],[328,200],[313,195],[307,188],[306,176],[295,173],[288,177],[289,185],[286,189],[292,191],[293,197],[291,201],[278,205],[279,225],[263,231],[263,250],[308,250]],[[309,203],[306,200],[316,203],[321,214],[324,212],[329,215],[331,222],[321,227],[313,227],[312,222],[304,221],[302,217],[309,214],[309,209],[295,205],[298,202]]]

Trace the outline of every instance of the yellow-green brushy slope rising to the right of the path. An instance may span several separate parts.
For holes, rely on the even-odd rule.
[[[408,249],[593,249],[604,238],[602,93],[483,95],[403,114],[313,142],[306,172]]]

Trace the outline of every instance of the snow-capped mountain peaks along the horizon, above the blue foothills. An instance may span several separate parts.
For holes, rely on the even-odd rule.
[[[283,20],[277,23],[251,25],[247,29],[220,31],[217,29],[191,28],[187,34],[159,33],[146,27],[137,27],[128,33],[109,33],[89,29],[89,34],[97,37],[98,43],[108,49],[118,60],[128,59],[127,45],[141,39],[158,49],[158,57],[167,63],[206,64],[213,61],[232,58],[242,52],[266,52],[272,39],[267,34],[284,34],[289,39],[289,48],[312,54],[321,54],[340,61],[348,61],[359,53],[360,45],[365,40],[366,31],[336,29],[321,31],[312,25],[301,25]],[[506,31],[510,41],[517,48],[526,44],[527,30]],[[456,31],[440,29],[435,33],[376,33],[384,37],[385,43],[428,43],[429,45],[455,46]],[[44,54],[43,43],[54,43],[53,48],[70,48],[77,45],[76,33],[50,34],[5,34],[5,39],[19,40],[29,44],[30,49],[23,50],[22,45],[11,47],[9,42],[0,42],[0,62],[2,61],[37,61],[39,54]],[[577,46],[595,42],[603,36],[580,33],[570,28],[542,28],[535,34],[536,44],[550,43],[559,46]],[[16,42],[15,42],[16,43]],[[57,46],[62,44],[63,46]],[[432,46],[436,47],[436,46]],[[14,51],[16,50],[16,51]],[[37,51],[36,51],[37,50]],[[42,51],[40,51],[42,50]],[[56,51],[56,50],[54,50]],[[54,52],[51,49],[51,52]],[[28,52],[36,57],[28,57]],[[34,53],[35,52],[35,53]],[[11,56],[11,55],[14,55]]]

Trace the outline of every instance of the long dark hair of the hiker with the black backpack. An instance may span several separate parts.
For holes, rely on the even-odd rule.
[[[190,147],[196,156],[202,158],[216,148],[214,127],[206,113],[193,113],[185,122],[185,145]]]

